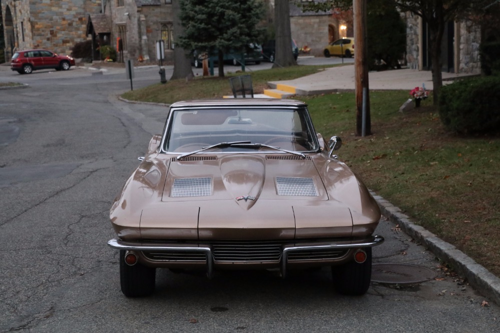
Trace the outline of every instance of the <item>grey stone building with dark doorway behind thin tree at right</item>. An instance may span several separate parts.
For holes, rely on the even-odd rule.
[[[406,13],[406,62],[409,68],[430,70],[430,54],[426,26],[420,16]],[[442,71],[474,73],[481,71],[480,27],[470,21],[448,22],[443,34]]]

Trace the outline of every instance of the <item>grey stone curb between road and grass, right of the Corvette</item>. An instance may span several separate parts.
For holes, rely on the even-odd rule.
[[[401,230],[422,245],[426,246],[440,260],[450,264],[469,284],[479,291],[488,300],[500,305],[500,278],[478,264],[474,259],[457,249],[454,245],[441,240],[424,227],[413,223],[410,217],[401,212],[401,209],[385,200],[382,196],[372,192],[382,214]]]

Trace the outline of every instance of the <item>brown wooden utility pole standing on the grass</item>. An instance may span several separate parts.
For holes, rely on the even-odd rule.
[[[370,97],[368,88],[368,52],[366,49],[366,0],[353,0],[354,77],[356,91],[356,134],[371,134]]]

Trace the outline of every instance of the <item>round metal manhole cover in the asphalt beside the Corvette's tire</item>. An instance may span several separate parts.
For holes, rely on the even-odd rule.
[[[429,268],[406,263],[374,263],[371,280],[381,283],[417,283],[433,279],[436,273]]]

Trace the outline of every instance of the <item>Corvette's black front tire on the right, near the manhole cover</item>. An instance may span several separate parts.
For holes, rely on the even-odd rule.
[[[338,293],[359,296],[368,290],[371,280],[371,247],[363,249],[366,252],[366,260],[363,263],[352,260],[332,266],[333,283]]]

